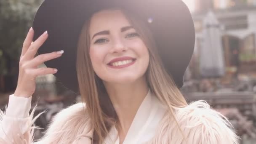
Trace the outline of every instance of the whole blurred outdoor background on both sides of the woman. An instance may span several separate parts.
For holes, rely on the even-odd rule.
[[[0,108],[15,91],[21,45],[43,0],[0,0]],[[256,0],[183,0],[192,13],[196,43],[184,75],[188,102],[203,99],[231,120],[240,144],[256,143]],[[44,67],[42,65],[41,67]],[[56,83],[37,77],[32,107],[47,110],[36,125],[47,124],[59,110],[80,101]],[[35,131],[40,138],[44,130]]]

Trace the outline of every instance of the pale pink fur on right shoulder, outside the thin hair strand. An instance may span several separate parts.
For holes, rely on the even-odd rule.
[[[238,144],[229,120],[211,109],[206,101],[180,108],[176,116],[190,144]]]

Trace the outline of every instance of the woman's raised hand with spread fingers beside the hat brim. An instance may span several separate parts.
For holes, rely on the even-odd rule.
[[[20,61],[19,61],[19,78],[14,96],[29,97],[35,92],[35,79],[39,75],[54,74],[57,72],[55,68],[42,67],[37,68],[40,64],[51,59],[56,59],[62,55],[64,51],[40,54],[35,57],[37,50],[48,38],[45,31],[35,42],[32,42],[34,30],[29,29],[26,39],[24,40]]]

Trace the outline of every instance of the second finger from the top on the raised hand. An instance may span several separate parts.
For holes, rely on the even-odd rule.
[[[35,54],[37,53],[38,48],[43,45],[45,40],[48,37],[48,32],[45,31],[40,37],[37,38],[37,40],[32,43],[32,45],[29,46],[27,52],[24,55],[24,59],[33,59]]]

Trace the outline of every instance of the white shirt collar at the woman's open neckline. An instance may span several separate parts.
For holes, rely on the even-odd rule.
[[[123,144],[141,144],[152,139],[164,113],[165,109],[161,106],[160,101],[149,91],[136,112]],[[119,144],[115,126],[111,128],[105,139],[105,144],[113,143]]]

